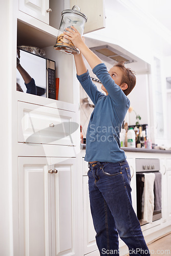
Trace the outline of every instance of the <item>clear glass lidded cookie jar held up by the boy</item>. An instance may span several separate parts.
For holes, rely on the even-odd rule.
[[[84,24],[87,22],[87,16],[80,12],[79,6],[73,6],[72,9],[63,10],[61,15],[62,19],[54,49],[73,55],[79,54],[79,49],[73,45],[71,40],[64,37],[65,34],[63,31],[66,31],[66,28],[74,26],[82,36]]]

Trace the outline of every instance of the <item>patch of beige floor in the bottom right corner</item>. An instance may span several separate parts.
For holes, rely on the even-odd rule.
[[[169,255],[171,254],[171,233],[148,244],[151,255]]]

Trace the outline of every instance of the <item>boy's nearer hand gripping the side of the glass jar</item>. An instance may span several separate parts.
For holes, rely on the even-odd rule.
[[[75,47],[79,49],[81,45],[84,45],[84,40],[82,39],[80,33],[77,31],[77,29],[73,26],[70,28],[66,28],[67,31],[63,31],[65,34],[65,38],[71,40]]]

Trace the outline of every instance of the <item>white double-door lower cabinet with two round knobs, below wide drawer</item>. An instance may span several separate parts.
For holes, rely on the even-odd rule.
[[[76,159],[19,157],[19,255],[77,255]]]

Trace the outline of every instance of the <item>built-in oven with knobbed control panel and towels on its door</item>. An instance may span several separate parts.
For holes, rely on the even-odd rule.
[[[154,175],[146,175],[146,174],[154,174]],[[146,181],[145,181],[146,177]],[[147,182],[147,179],[153,177],[153,180],[146,184],[148,184],[150,191],[149,196],[154,193],[154,210],[152,207],[151,218],[152,222],[159,220],[162,218],[161,214],[161,178],[162,175],[160,173],[160,160],[159,159],[136,159],[136,186],[137,186],[137,217],[140,222],[140,225],[147,224],[148,221],[144,221],[144,199],[148,197],[144,197],[144,193],[148,193],[148,190],[144,189],[144,183]],[[147,185],[145,185],[147,186]],[[150,207],[153,205],[149,205]],[[146,212],[145,212],[146,215]]]

